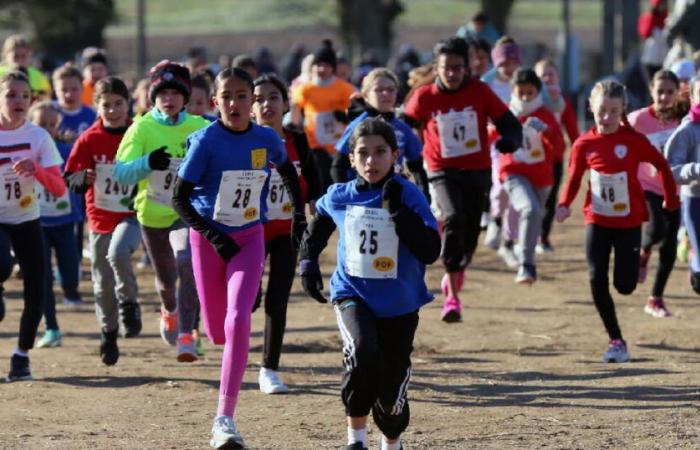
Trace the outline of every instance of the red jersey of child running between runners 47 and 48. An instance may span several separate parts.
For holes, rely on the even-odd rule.
[[[547,125],[547,130],[540,133],[532,127],[523,127],[523,146],[514,153],[500,156],[499,178],[503,181],[509,175],[522,175],[534,187],[551,186],[554,184],[554,155],[564,152],[564,137],[554,114],[545,106],[518,117],[518,121],[524,123],[528,117],[540,119]]]

